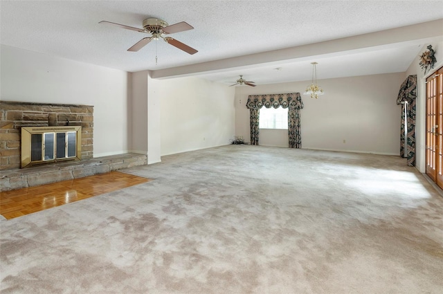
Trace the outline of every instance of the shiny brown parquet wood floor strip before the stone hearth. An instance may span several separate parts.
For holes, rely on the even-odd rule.
[[[0,192],[0,214],[6,219],[87,199],[151,181],[150,178],[108,172],[69,181]]]

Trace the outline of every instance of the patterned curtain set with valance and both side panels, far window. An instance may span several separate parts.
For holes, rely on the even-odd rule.
[[[288,108],[289,148],[301,148],[300,109],[303,108],[300,93],[249,95],[246,107],[251,113],[251,144],[258,145],[259,112],[260,108]],[[253,113],[253,110],[257,113]]]

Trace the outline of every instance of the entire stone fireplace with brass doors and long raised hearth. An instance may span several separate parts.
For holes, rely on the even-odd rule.
[[[20,168],[24,145],[30,164]],[[93,158],[90,105],[0,101],[0,163],[2,192],[147,165],[147,155]]]

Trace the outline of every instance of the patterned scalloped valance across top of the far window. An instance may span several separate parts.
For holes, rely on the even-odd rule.
[[[262,107],[302,109],[303,102],[300,93],[248,95],[246,107],[248,109],[260,109]]]

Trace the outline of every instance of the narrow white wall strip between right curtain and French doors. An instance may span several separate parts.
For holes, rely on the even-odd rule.
[[[435,50],[437,64],[430,72],[424,74],[424,70],[419,66],[419,55],[427,50],[426,44],[420,50],[412,64],[410,64],[404,80],[408,75],[417,75],[417,106],[415,109],[415,167],[419,172],[426,172],[426,77],[434,73],[443,66],[443,42],[431,44]]]

